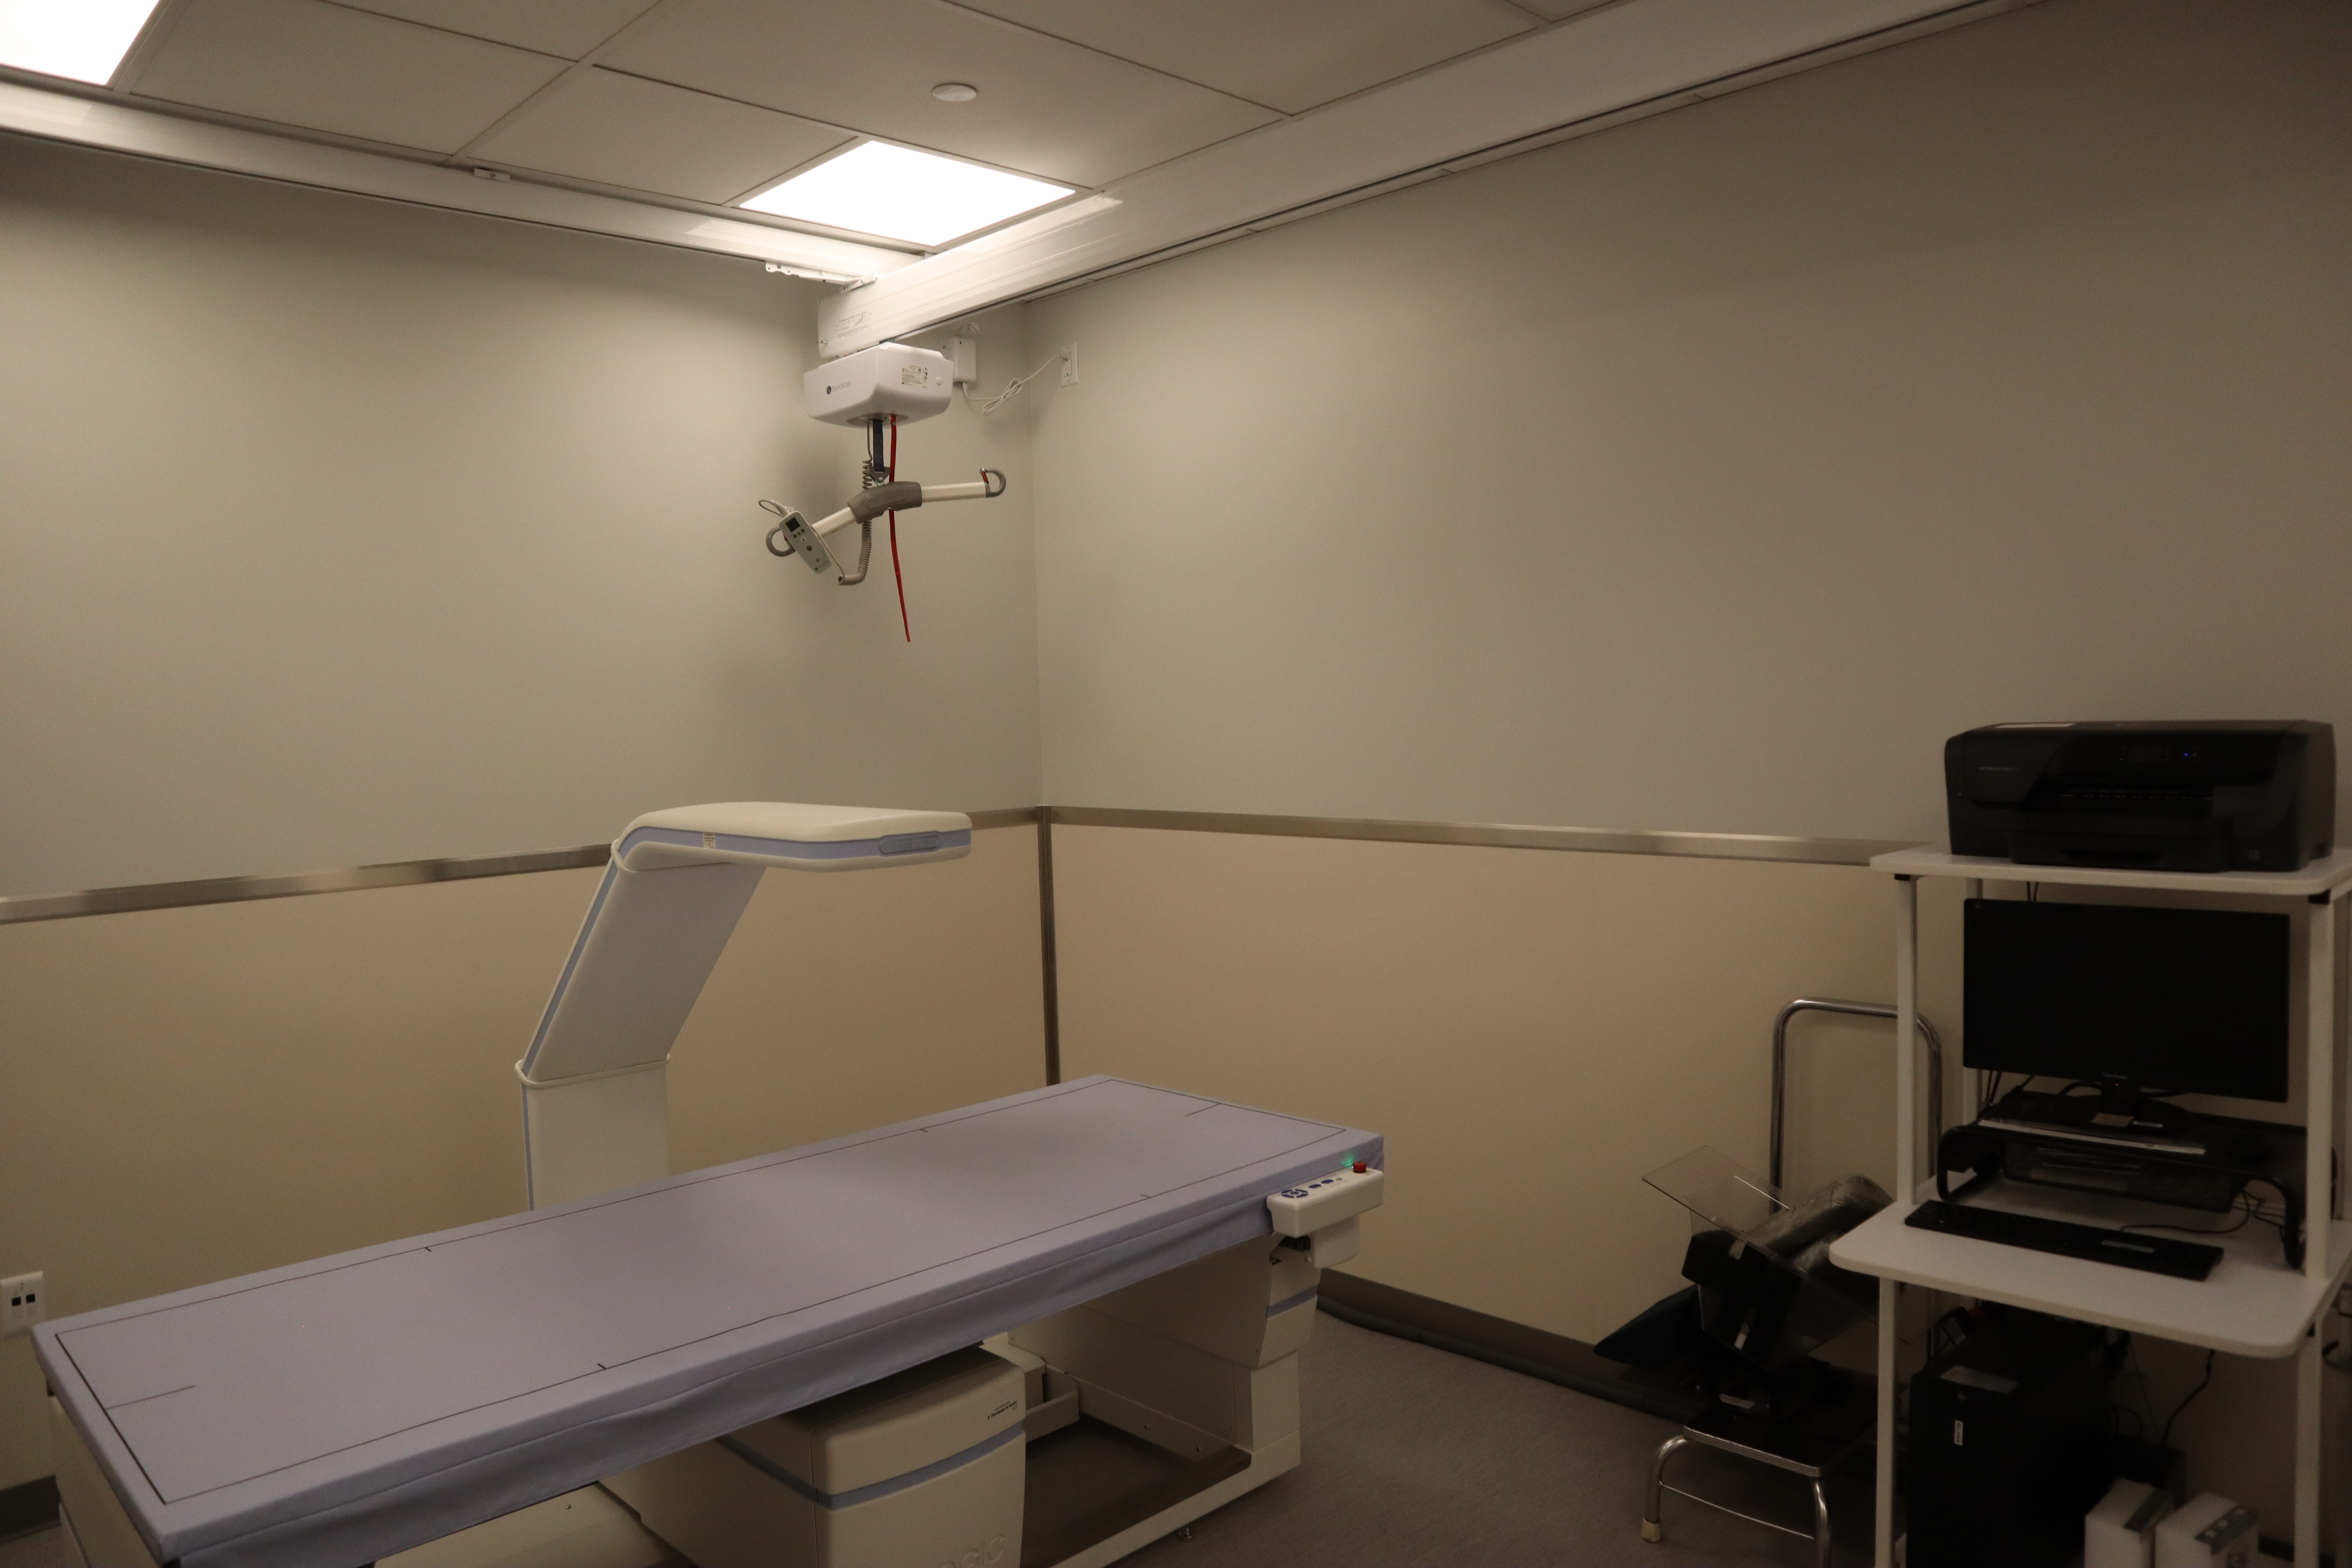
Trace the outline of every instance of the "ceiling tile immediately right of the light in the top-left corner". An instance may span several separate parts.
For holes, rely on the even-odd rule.
[[[193,0],[132,92],[454,153],[562,68],[318,0]]]

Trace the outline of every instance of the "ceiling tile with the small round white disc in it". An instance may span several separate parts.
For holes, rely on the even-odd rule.
[[[1275,115],[938,0],[687,0],[600,63],[1070,186]],[[971,82],[941,103],[938,82]]]

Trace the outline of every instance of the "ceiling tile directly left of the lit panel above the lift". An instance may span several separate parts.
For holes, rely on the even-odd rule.
[[[543,92],[470,155],[731,202],[844,141],[830,125],[590,66]]]

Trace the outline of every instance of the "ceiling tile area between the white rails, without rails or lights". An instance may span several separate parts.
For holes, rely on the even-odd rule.
[[[861,136],[1101,188],[1595,5],[165,0],[113,89],[710,205]]]

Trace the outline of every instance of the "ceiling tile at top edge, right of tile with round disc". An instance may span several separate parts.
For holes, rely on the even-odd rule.
[[[1376,87],[1538,24],[1503,0],[962,0],[1284,113]]]

